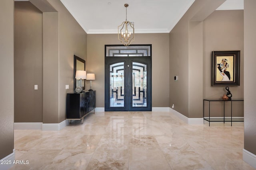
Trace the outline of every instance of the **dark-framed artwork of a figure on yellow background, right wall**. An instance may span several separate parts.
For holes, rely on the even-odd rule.
[[[240,51],[212,51],[212,86],[240,86]]]

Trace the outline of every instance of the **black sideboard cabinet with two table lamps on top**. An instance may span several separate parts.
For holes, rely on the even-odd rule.
[[[72,120],[82,120],[84,122],[84,116],[94,110],[96,107],[96,92],[86,91],[82,93],[68,93],[66,100],[66,117],[71,123]]]

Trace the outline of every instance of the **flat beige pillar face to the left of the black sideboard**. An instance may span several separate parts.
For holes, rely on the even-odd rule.
[[[43,13],[43,123],[59,122],[59,15]]]

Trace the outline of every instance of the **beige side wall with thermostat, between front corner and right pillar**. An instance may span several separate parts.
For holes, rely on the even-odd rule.
[[[188,24],[178,23],[170,32],[170,104],[188,117]],[[174,81],[174,76],[178,80]]]

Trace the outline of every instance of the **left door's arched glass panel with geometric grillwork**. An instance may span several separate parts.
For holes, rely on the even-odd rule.
[[[110,107],[124,107],[124,62],[110,65]]]

